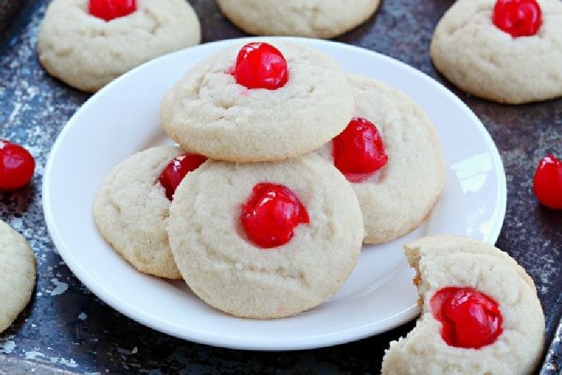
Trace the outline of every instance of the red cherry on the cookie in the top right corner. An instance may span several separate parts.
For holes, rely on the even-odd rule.
[[[542,12],[537,0],[497,0],[492,22],[511,37],[530,37],[542,25]]]

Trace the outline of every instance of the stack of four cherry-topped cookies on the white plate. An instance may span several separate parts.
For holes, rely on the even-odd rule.
[[[183,277],[238,317],[322,303],[363,242],[417,227],[444,184],[435,131],[410,98],[320,51],[274,44],[225,49],[188,70],[161,108],[179,146],[125,160],[94,208],[133,266]]]

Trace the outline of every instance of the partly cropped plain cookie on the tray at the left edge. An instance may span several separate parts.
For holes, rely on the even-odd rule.
[[[0,332],[30,302],[37,260],[21,234],[0,221]]]

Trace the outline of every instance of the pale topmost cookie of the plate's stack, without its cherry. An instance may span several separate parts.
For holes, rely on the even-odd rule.
[[[185,151],[235,162],[291,158],[332,139],[353,112],[344,72],[329,56],[299,44],[273,43],[285,57],[287,82],[248,89],[233,70],[242,45],[210,56],[164,96],[164,131]]]

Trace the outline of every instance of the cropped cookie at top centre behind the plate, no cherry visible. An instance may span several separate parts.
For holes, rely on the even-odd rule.
[[[256,35],[332,38],[370,18],[379,0],[218,0],[237,27]]]

